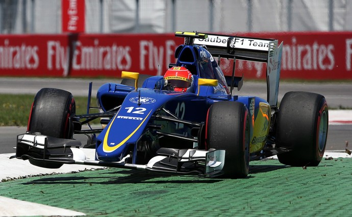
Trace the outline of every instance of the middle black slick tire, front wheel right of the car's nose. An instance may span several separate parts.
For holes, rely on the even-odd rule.
[[[249,171],[249,115],[240,102],[210,106],[206,121],[207,149],[224,149],[224,177],[244,178]]]

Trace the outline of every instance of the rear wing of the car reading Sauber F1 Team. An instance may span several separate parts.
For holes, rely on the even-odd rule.
[[[234,60],[232,86],[235,77],[235,60],[263,62],[267,64],[267,101],[272,106],[278,104],[281,56],[283,42],[278,46],[278,40],[248,38],[205,33],[176,32],[175,36],[185,37],[185,43],[205,45],[214,57]],[[220,61],[219,61],[220,63]]]

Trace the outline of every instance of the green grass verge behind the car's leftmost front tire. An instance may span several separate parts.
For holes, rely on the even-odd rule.
[[[0,94],[0,126],[27,126],[33,99],[34,95],[30,94]],[[88,97],[74,97],[74,99],[76,114],[86,114]],[[95,101],[96,99],[92,98],[91,102],[94,106]]]

